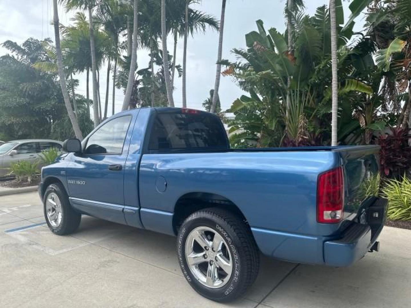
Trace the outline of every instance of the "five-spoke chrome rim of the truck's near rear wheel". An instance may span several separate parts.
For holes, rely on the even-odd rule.
[[[197,227],[185,243],[185,257],[191,273],[210,288],[224,286],[233,272],[233,259],[225,239],[208,227]]]

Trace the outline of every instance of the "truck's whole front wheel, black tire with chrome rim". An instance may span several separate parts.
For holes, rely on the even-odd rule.
[[[43,205],[44,218],[48,228],[54,234],[66,235],[79,228],[81,214],[72,208],[67,193],[61,184],[50,184],[46,188]]]

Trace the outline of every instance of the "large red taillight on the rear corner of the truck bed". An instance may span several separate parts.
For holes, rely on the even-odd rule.
[[[342,167],[321,173],[317,183],[317,221],[338,223],[344,211],[344,175]]]

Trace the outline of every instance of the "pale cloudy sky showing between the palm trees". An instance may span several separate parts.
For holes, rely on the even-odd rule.
[[[261,19],[266,30],[277,28],[279,32],[284,32],[286,25],[284,19],[284,5],[286,0],[228,0],[226,5],[226,15],[224,24],[223,59],[236,61],[236,57],[231,53],[233,48],[245,48],[245,34],[256,30],[255,21]],[[328,4],[328,0],[306,0],[305,9],[308,14],[313,15],[315,9],[321,5]],[[348,19],[349,2],[343,2],[345,20]],[[201,5],[193,5],[195,9],[200,9],[220,18],[221,0],[203,0]],[[65,12],[60,7],[60,23],[69,25],[73,12]],[[0,1],[0,43],[11,40],[18,44],[23,43],[29,37],[53,39],[53,1],[52,0],[1,0]],[[359,21],[356,28],[360,30]],[[356,29],[355,28],[355,29]],[[189,37],[187,49],[187,107],[203,109],[201,103],[209,96],[210,89],[214,88],[217,48],[219,34],[216,31],[207,30],[204,34],[197,33],[194,37]],[[54,39],[53,39],[54,41]],[[177,64],[182,64],[182,43],[180,39],[177,46]],[[169,51],[173,51],[173,39],[167,39]],[[0,56],[8,51],[0,46]],[[138,66],[140,69],[148,66],[148,51],[139,50],[137,53]],[[104,101],[106,92],[106,66],[100,72],[100,96]],[[76,93],[85,96],[85,74],[76,75],[80,80],[80,85]],[[175,78],[174,102],[175,106],[182,106],[182,78]],[[90,80],[91,89],[91,80]],[[222,103],[222,110],[230,108],[233,101],[245,94],[233,82],[232,78],[221,78],[219,96]],[[111,87],[110,87],[111,102]],[[90,96],[92,92],[90,90]],[[123,101],[123,91],[115,92],[115,112],[121,110]],[[111,108],[109,108],[111,115]]]

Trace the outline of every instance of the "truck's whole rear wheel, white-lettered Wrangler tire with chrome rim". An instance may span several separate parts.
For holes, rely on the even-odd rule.
[[[204,209],[178,232],[178,258],[188,283],[203,297],[232,301],[254,282],[259,254],[249,227],[235,214]]]

